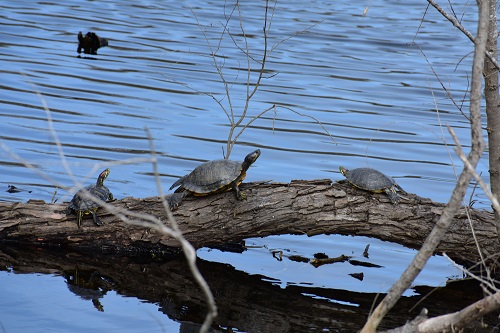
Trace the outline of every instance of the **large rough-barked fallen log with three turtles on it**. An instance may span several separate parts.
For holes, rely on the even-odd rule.
[[[248,193],[247,201],[237,201],[232,192],[183,201],[175,219],[195,248],[268,235],[329,233],[370,236],[419,248],[444,207],[412,194],[393,205],[385,194],[332,184],[331,180],[247,183],[241,188]],[[124,198],[111,205],[151,214],[168,223],[158,197]],[[105,209],[99,212],[105,225],[97,227],[85,219],[78,229],[76,218],[63,214],[64,208],[45,203],[0,203],[0,241],[103,253],[178,248],[171,237],[125,224]],[[438,252],[462,263],[479,261],[471,228],[485,256],[500,252],[492,213],[469,209],[467,214],[465,208],[457,213]]]

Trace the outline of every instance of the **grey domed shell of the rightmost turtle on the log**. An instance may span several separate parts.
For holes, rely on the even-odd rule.
[[[354,186],[375,193],[384,192],[396,184],[394,179],[372,168],[347,170],[344,176]]]

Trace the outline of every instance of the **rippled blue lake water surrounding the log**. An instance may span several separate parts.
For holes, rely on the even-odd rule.
[[[232,106],[236,115],[245,108],[245,43],[251,55],[251,89],[260,67],[263,4],[241,5],[246,39],[237,12],[223,29],[233,7],[218,1],[0,4],[0,200],[67,201],[75,188],[59,188],[54,195],[56,186],[74,185],[65,165],[85,184],[109,166],[106,182],[117,198],[154,196],[152,166],[145,162],[151,157],[146,128],[165,189],[200,162],[221,158],[230,130],[221,106]],[[474,6],[457,5],[454,10],[466,28],[475,31]],[[338,180],[340,165],[369,166],[393,176],[408,192],[446,202],[461,168],[446,126],[454,129],[465,149],[470,139],[467,119],[441,84],[467,113],[472,45],[435,10],[429,9],[423,18],[425,12],[426,3],[420,1],[404,6],[397,1],[278,2],[268,29],[266,71],[243,124],[276,108],[252,122],[231,152],[232,159],[242,160],[261,149],[247,181]],[[98,55],[77,57],[79,31],[94,31],[108,38],[109,46]],[[488,175],[486,154],[478,171]],[[21,191],[8,193],[9,185]],[[475,207],[488,208],[482,191],[472,188]],[[363,284],[352,278],[336,284],[369,292],[384,292],[413,255],[395,244],[336,237],[269,237],[248,240],[259,247],[244,254],[202,249],[199,255],[263,275],[283,288],[330,288],[325,270],[296,263],[285,267],[270,258],[267,249],[311,255],[329,252],[334,244],[339,253],[362,252],[369,242],[380,251],[380,262],[384,256],[393,258],[383,262],[386,269]],[[439,286],[459,275],[447,261],[435,260],[419,283]],[[179,331],[175,320],[158,319],[157,314],[147,323],[129,322],[128,314],[155,312],[155,306],[119,293],[104,297],[116,305],[118,314],[111,311],[101,317],[103,323],[90,324],[87,319],[95,311],[75,300],[60,275],[15,273],[0,272],[0,327],[6,332],[88,332],[107,324],[120,327],[120,332],[137,327]],[[38,294],[26,292],[33,285]],[[40,298],[67,306],[50,309],[45,302],[33,303]],[[61,312],[71,320],[48,320]],[[34,319],[32,326],[21,320],[26,314]],[[161,325],[155,326],[158,322]]]

